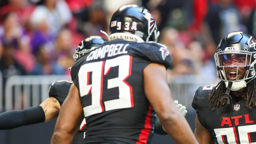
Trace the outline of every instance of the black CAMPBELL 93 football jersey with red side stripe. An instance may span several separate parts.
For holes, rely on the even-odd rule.
[[[170,66],[171,56],[156,42],[112,40],[76,61],[71,69],[88,131],[85,143],[147,144],[155,112],[145,96],[143,70]]]

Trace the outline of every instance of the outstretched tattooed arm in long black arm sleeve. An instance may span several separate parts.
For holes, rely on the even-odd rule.
[[[24,110],[6,111],[0,114],[0,130],[47,122],[58,116],[59,109],[60,105],[57,99],[49,97],[40,106],[33,106]]]

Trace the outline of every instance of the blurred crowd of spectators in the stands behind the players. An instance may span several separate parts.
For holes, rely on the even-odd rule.
[[[12,75],[70,74],[84,38],[108,33],[121,5],[143,5],[172,56],[169,76],[215,77],[213,55],[231,31],[256,36],[256,0],[0,0],[0,71]]]

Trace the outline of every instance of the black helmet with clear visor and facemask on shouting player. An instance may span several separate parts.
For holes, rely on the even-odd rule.
[[[231,32],[220,40],[217,52],[214,55],[217,76],[220,80],[228,82],[225,67],[237,68],[236,80],[238,82],[255,78],[256,66],[256,40],[248,33],[241,31]],[[247,71],[243,79],[238,80],[238,67],[244,67]]]

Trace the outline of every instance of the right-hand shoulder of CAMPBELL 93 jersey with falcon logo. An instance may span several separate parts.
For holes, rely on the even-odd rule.
[[[133,49],[139,57],[152,63],[163,64],[166,68],[171,65],[171,55],[165,45],[156,42],[136,42]]]

